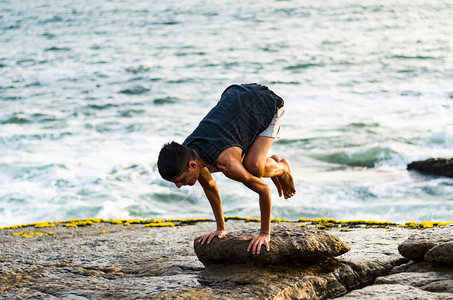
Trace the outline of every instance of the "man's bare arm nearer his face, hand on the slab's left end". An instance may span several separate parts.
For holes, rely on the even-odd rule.
[[[201,242],[201,244],[204,244],[205,242],[209,244],[213,237],[217,236],[218,238],[222,238],[225,236],[225,219],[223,217],[222,199],[220,198],[217,183],[214,178],[212,178],[211,172],[209,172],[207,168],[203,168],[201,170],[198,182],[203,188],[206,198],[208,198],[208,201],[211,204],[212,212],[214,213],[217,223],[216,231],[204,234],[198,239],[198,242]]]

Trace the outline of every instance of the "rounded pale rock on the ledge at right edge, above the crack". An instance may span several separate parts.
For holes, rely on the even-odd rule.
[[[429,228],[413,234],[398,246],[398,251],[408,259],[423,260],[425,259],[425,254],[431,249],[448,243],[448,245],[441,246],[438,250],[433,249],[433,252],[428,254],[427,260],[453,263],[453,260],[451,260],[451,242],[453,242],[453,224]],[[450,252],[448,252],[449,249]]]

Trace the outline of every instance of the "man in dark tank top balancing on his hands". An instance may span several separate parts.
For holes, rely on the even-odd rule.
[[[288,160],[266,157],[278,137],[283,105],[266,86],[232,85],[182,145],[162,147],[157,163],[162,178],[178,188],[198,181],[211,204],[217,230],[200,236],[201,244],[226,234],[222,200],[211,176],[220,171],[259,195],[261,230],[247,239],[247,251],[259,254],[262,245],[269,251],[271,192],[261,177],[272,179],[280,197],[288,199],[296,192]]]

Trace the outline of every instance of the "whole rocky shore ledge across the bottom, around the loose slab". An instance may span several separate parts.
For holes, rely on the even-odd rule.
[[[230,231],[256,230],[257,225],[241,220],[227,222]],[[300,225],[292,222],[273,227],[275,241],[279,231],[297,232]],[[438,253],[431,252],[436,247],[450,247],[453,225],[426,230],[360,225],[332,228],[329,235],[319,236],[330,239],[331,235],[334,245],[347,245],[342,251],[351,249],[335,258],[330,256],[336,254],[329,254],[300,264],[285,260],[266,265],[223,260],[208,262],[208,267],[195,255],[193,239],[212,230],[214,223],[145,226],[95,223],[74,228],[56,224],[51,232],[42,228],[26,235],[20,232],[23,228],[1,230],[0,298],[453,298],[451,261],[443,254],[439,254],[442,263],[431,259]],[[430,248],[426,247],[428,238]],[[315,240],[307,245],[316,245]],[[407,245],[407,241],[425,249],[423,260],[417,256],[419,260],[413,261],[400,254],[398,246]],[[323,243],[332,245],[326,240]],[[294,249],[300,249],[299,245]]]

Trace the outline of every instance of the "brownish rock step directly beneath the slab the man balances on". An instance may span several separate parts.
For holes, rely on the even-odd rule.
[[[399,263],[329,259],[305,266],[212,264],[199,281],[229,299],[328,299],[371,284]]]

